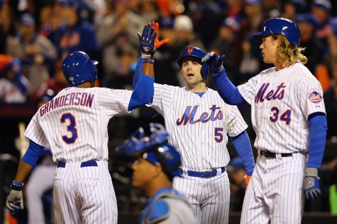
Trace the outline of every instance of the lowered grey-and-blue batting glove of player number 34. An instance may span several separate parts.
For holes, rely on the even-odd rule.
[[[319,188],[319,177],[317,168],[306,168],[304,177],[304,193],[309,200],[315,199],[321,194]]]

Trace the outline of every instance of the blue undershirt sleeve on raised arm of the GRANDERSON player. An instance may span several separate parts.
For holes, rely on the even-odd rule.
[[[155,79],[153,77],[141,74],[138,83],[131,95],[128,110],[132,111],[142,105],[152,103],[154,95]]]

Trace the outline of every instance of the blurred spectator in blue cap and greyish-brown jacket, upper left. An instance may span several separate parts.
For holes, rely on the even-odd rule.
[[[17,57],[23,64],[23,74],[27,76],[35,90],[50,75],[50,69],[56,60],[54,45],[35,30],[35,19],[32,14],[20,17],[20,36],[9,39],[7,54]]]

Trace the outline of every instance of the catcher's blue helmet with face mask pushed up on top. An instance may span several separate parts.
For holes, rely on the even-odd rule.
[[[180,176],[181,158],[179,152],[168,143],[169,134],[161,124],[150,124],[151,136],[146,137],[143,128],[139,128],[116,151],[125,151],[128,155],[141,154],[149,162],[162,166],[169,176]]]

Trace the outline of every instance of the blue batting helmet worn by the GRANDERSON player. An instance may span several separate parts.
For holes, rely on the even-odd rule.
[[[91,61],[90,57],[82,52],[75,51],[69,54],[62,62],[62,71],[69,86],[97,79],[97,61]]]

